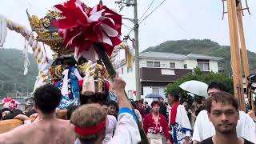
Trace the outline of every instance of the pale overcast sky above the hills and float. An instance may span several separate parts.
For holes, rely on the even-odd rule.
[[[243,17],[246,46],[248,50],[256,52],[256,1],[247,1],[251,15],[245,11],[245,17]],[[0,14],[30,28],[26,17],[26,9],[29,10],[30,14],[43,17],[47,10],[50,10],[51,6],[58,2],[66,1],[0,0]],[[151,2],[153,4],[147,14],[154,10],[162,0],[138,0],[138,18],[141,18]],[[97,3],[98,0],[88,0],[86,2],[88,6],[94,6]],[[119,11],[118,5],[114,4],[114,0],[103,0],[103,4]],[[121,14],[126,18],[133,18],[133,7],[123,8]],[[133,23],[127,20],[123,20],[123,23],[126,26],[122,27],[122,35],[126,35],[130,31],[129,27],[133,26]],[[134,34],[131,33],[130,37],[133,38]],[[157,46],[168,40],[191,38],[209,38],[220,45],[230,45],[227,14],[224,20],[222,20],[221,0],[166,0],[158,10],[155,10],[139,26],[140,51],[145,50],[149,46]],[[23,46],[24,38],[16,32],[8,30],[4,47],[22,50]]]

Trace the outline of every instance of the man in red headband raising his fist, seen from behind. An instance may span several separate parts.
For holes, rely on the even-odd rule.
[[[113,88],[118,99],[118,124],[114,131],[113,138],[107,144],[137,144],[141,141],[138,131],[138,122],[135,114],[132,112],[130,102],[125,93],[126,82],[118,77],[114,78]],[[81,106],[72,114],[70,122],[74,124],[74,132],[77,140],[76,144],[102,144],[106,136],[106,127],[108,124],[106,110],[98,104],[88,104]]]

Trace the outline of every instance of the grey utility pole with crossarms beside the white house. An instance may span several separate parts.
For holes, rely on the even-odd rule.
[[[139,50],[138,50],[138,2],[134,0],[134,3],[131,3],[131,0],[126,0],[126,2],[116,2],[118,4],[125,4],[126,6],[134,6],[134,18],[124,18],[128,19],[131,22],[134,22],[134,59],[135,59],[135,83],[136,83],[136,100],[141,99],[141,82],[139,77]]]

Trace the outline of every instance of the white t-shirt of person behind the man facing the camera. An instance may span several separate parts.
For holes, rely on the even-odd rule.
[[[214,125],[210,122],[207,111],[202,110],[194,123],[192,140],[201,142],[206,138],[212,137],[214,134]],[[237,134],[239,137],[246,138],[246,140],[256,143],[256,123],[243,111],[239,111]]]

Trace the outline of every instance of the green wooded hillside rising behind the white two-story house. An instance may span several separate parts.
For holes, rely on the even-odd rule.
[[[209,56],[221,57],[219,66],[224,68],[225,74],[232,74],[230,65],[230,46],[220,46],[217,42],[210,39],[191,39],[163,42],[158,46],[151,46],[144,51],[170,52],[177,54],[204,54]],[[256,68],[256,54],[247,50],[250,70]]]

